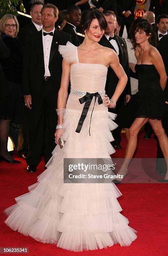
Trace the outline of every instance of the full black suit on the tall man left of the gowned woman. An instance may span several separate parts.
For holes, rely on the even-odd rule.
[[[37,166],[41,159],[44,125],[46,140],[44,141],[45,163],[52,156],[54,149],[54,132],[57,125],[57,93],[61,83],[62,56],[58,46],[66,45],[71,36],[55,29],[49,56],[49,72],[51,77],[44,80],[44,54],[42,31],[32,36],[27,43],[23,59],[23,94],[32,95],[32,110],[29,112],[29,153],[27,164]]]

